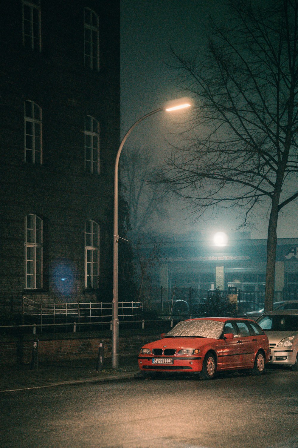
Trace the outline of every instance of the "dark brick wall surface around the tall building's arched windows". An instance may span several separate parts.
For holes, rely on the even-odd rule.
[[[0,16],[0,302],[23,294],[77,302],[84,284],[84,223],[100,224],[100,288],[112,296],[113,161],[120,140],[119,0],[41,0],[42,52],[22,47],[21,2]],[[84,68],[84,7],[100,21],[100,71]],[[59,11],[59,15],[57,15]],[[24,101],[42,109],[42,166],[24,161]],[[84,171],[84,117],[100,123],[101,172]],[[43,221],[43,288],[25,288],[25,216]],[[66,281],[62,281],[62,278]],[[64,282],[64,283],[63,283]],[[65,285],[68,285],[65,288]],[[18,297],[12,309],[12,298]],[[14,301],[16,302],[16,301]],[[14,305],[14,304],[13,304]]]

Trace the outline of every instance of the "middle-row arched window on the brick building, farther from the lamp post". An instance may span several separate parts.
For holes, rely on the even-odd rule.
[[[25,162],[42,164],[42,109],[33,101],[24,102]]]

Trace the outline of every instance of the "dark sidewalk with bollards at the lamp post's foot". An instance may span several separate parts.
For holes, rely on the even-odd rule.
[[[92,383],[134,378],[139,374],[136,356],[119,357],[118,369],[112,369],[111,358],[103,361],[103,370],[96,372],[96,359],[79,359],[39,363],[37,370],[26,364],[0,365],[0,393],[45,388],[65,384]]]

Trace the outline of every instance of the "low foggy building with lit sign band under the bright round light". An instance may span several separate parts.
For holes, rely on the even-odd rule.
[[[148,241],[148,240],[147,240]],[[163,300],[206,298],[207,291],[236,288],[245,300],[264,300],[267,240],[250,239],[250,234],[227,236],[224,246],[200,233],[166,237],[154,235],[143,243],[143,252],[151,253],[160,244],[160,265],[151,274],[155,303]],[[275,269],[275,299],[298,298],[298,238],[279,238]]]

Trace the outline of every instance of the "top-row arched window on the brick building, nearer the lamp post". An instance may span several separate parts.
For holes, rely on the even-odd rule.
[[[99,20],[92,9],[84,8],[84,64],[99,70]]]

